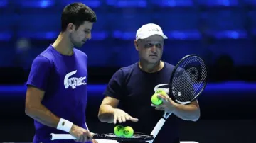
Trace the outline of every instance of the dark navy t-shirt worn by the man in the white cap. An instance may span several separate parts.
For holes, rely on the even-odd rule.
[[[164,111],[151,107],[151,96],[156,89],[163,88],[169,92],[169,79],[174,66],[164,62],[164,67],[155,73],[146,73],[139,68],[138,62],[119,69],[110,79],[105,96],[117,98],[120,109],[138,122],[125,122],[124,126],[131,126],[134,132],[150,134]],[[178,118],[170,115],[154,142],[179,142]]]

